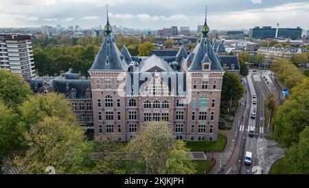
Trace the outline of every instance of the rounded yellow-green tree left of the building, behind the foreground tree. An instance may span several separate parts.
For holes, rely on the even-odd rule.
[[[76,116],[69,107],[69,103],[62,94],[48,93],[47,95],[36,94],[30,96],[21,105],[21,128],[29,130],[46,117],[57,117],[62,121],[76,122]]]

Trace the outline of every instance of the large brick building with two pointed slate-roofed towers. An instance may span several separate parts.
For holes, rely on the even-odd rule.
[[[104,31],[89,70],[97,140],[130,140],[150,121],[166,122],[181,140],[217,140],[224,70],[206,21],[190,55],[181,48],[176,56],[131,56],[126,46],[118,50],[108,22]]]

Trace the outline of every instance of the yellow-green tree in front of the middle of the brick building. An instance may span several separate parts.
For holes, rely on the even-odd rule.
[[[193,163],[186,160],[190,151],[184,148],[184,143],[176,143],[172,129],[165,123],[152,122],[141,127],[139,134],[128,143],[128,151],[137,152],[137,159],[146,164],[148,174],[195,172]]]

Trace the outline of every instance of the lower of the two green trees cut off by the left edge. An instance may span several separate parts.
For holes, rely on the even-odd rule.
[[[0,101],[0,171],[3,157],[19,145],[18,121],[17,114]]]

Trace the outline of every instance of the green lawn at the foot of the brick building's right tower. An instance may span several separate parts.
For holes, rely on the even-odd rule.
[[[191,152],[222,152],[227,144],[227,137],[218,134],[218,140],[214,141],[187,141],[187,147]]]

